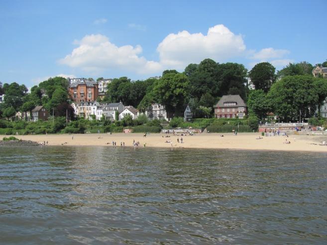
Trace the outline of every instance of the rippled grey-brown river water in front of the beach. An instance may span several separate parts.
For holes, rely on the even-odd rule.
[[[326,244],[327,154],[1,147],[0,244]]]

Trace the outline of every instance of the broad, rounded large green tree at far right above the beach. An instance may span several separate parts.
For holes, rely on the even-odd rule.
[[[315,113],[319,96],[313,76],[286,76],[277,81],[267,94],[272,109],[287,120],[310,117]]]

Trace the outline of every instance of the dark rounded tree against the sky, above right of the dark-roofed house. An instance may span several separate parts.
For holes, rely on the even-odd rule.
[[[255,89],[261,89],[267,93],[276,80],[275,70],[275,67],[269,62],[256,64],[249,72],[251,83],[254,85]]]

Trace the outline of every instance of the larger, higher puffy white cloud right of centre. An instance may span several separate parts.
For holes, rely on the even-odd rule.
[[[246,49],[241,35],[235,35],[224,25],[209,28],[207,35],[180,31],[171,33],[158,45],[160,62],[164,66],[184,68],[205,58],[222,62],[242,55]]]

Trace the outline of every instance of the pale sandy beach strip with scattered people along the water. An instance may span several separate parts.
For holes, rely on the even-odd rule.
[[[223,135],[221,137],[220,135]],[[0,138],[5,135],[1,135]],[[73,136],[73,137],[72,137]],[[166,137],[170,136],[170,137]],[[108,146],[112,141],[116,147],[124,142],[125,147],[133,147],[133,140],[139,142],[138,147],[174,147],[174,148],[214,148],[214,149],[246,149],[246,150],[274,150],[274,151],[320,151],[327,152],[326,145],[319,145],[327,141],[327,136],[318,135],[290,135],[268,136],[257,139],[260,133],[200,133],[196,135],[173,135],[152,133],[143,137],[142,133],[94,133],[94,134],[48,134],[48,135],[18,135],[19,139],[47,142],[48,145],[66,146]],[[181,143],[183,137],[183,143]],[[179,142],[177,142],[179,139]],[[290,144],[284,143],[285,140]],[[170,142],[166,142],[170,141]]]

